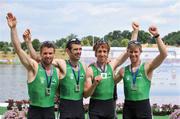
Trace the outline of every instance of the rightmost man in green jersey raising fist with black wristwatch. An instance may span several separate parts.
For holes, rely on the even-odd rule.
[[[131,64],[121,68],[115,76],[116,81],[123,79],[125,102],[123,119],[152,119],[149,91],[153,71],[166,58],[167,50],[160,38],[157,27],[149,27],[149,32],[156,39],[159,54],[148,62],[142,62],[142,46],[137,41],[130,41],[127,52]]]

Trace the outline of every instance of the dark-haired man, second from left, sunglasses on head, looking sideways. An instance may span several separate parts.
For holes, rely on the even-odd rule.
[[[30,30],[23,34],[31,57],[36,61],[40,57],[36,54],[31,43]],[[82,46],[77,38],[70,39],[66,44],[68,60],[54,59],[53,64],[60,70],[60,119],[84,119],[83,91],[86,65],[79,61]]]

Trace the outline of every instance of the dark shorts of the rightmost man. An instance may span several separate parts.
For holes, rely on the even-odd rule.
[[[123,119],[152,119],[149,99],[141,101],[125,100]]]

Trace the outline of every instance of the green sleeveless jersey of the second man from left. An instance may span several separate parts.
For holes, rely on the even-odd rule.
[[[81,62],[79,65],[79,91],[76,90],[78,71],[72,70],[69,61],[66,61],[66,75],[60,80],[60,98],[67,100],[81,100],[84,92],[85,71]],[[74,75],[75,74],[75,75]]]

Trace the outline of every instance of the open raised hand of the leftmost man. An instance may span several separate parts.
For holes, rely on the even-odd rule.
[[[17,24],[16,17],[13,16],[12,13],[10,13],[10,12],[7,13],[6,19],[7,19],[8,26],[11,29],[16,27],[16,24]]]

